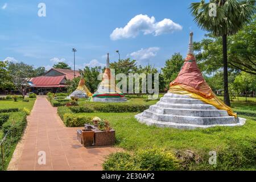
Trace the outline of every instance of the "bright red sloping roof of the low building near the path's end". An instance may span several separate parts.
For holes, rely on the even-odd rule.
[[[35,78],[31,78],[31,82],[33,86],[31,87],[63,87],[65,85],[61,85],[61,81],[65,78],[63,76],[39,76]]]

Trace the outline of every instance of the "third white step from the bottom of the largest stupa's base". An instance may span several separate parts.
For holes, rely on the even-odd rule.
[[[205,109],[176,109],[176,108],[162,108],[157,105],[150,106],[149,109],[152,113],[159,114],[172,114],[172,115],[184,115],[193,117],[227,117],[228,112],[226,110],[205,110]]]

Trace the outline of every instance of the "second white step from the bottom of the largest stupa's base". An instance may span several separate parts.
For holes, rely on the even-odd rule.
[[[234,117],[192,117],[185,115],[152,113],[150,109],[143,112],[143,117],[151,118],[155,121],[185,123],[192,125],[222,125],[237,123]]]

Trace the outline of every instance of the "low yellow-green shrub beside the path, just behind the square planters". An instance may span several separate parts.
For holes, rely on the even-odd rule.
[[[77,114],[64,114],[63,122],[67,127],[81,127],[86,123],[93,124],[92,117]]]

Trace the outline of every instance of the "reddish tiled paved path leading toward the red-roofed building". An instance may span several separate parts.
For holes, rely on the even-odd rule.
[[[101,170],[114,147],[85,148],[76,139],[76,128],[64,126],[57,108],[38,97],[27,128],[9,164],[9,170]],[[39,165],[39,151],[46,152],[46,165]]]

